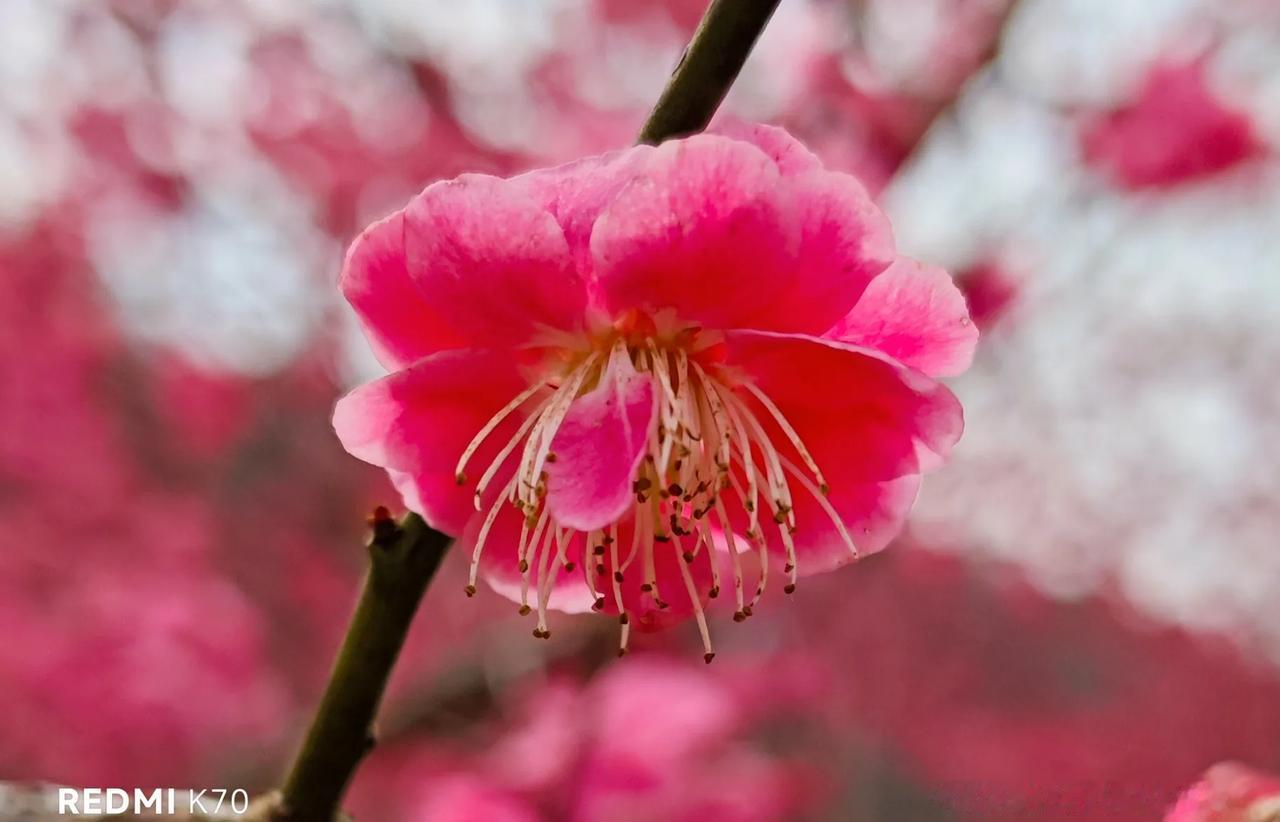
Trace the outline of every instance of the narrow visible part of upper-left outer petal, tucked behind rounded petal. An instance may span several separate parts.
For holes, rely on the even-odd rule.
[[[374,223],[351,243],[340,287],[374,355],[390,370],[463,344],[408,275],[403,211]]]

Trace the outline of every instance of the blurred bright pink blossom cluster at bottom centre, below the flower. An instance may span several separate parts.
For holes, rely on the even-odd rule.
[[[795,818],[824,798],[817,763],[756,744],[778,703],[748,702],[732,679],[744,672],[759,673],[640,654],[586,682],[531,682],[472,739],[375,752],[351,809],[422,822]]]

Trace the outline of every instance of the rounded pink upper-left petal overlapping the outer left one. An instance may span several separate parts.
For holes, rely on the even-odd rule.
[[[476,347],[520,346],[582,324],[586,289],[556,218],[483,174],[435,183],[404,210],[408,270]]]

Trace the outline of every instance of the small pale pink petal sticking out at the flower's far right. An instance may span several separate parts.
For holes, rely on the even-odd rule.
[[[873,279],[824,335],[883,351],[929,376],[961,374],[978,346],[978,326],[951,275],[908,257]]]

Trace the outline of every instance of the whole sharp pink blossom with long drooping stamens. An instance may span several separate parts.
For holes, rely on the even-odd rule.
[[[394,373],[334,414],[355,456],[458,534],[547,636],[547,608],[695,617],[769,557],[879,551],[960,437],[934,378],[977,330],[897,257],[851,177],[733,125],[513,179],[428,187],[352,246],[342,288]],[[744,584],[742,554],[759,581]],[[722,581],[727,580],[727,581]]]

